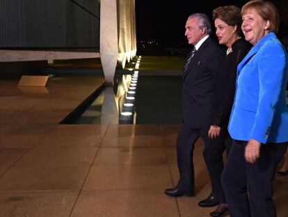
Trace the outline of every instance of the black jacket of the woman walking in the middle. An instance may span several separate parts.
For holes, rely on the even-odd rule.
[[[232,44],[232,52],[219,65],[215,78],[214,113],[211,125],[227,126],[235,94],[237,66],[252,45],[243,38]]]

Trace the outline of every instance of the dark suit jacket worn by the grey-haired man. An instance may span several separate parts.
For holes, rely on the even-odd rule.
[[[207,128],[213,112],[214,78],[225,54],[210,37],[195,52],[184,74],[182,90],[183,125]]]

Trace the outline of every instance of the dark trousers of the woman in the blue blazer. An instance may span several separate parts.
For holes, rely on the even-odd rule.
[[[287,144],[262,144],[256,163],[244,157],[247,142],[234,141],[222,184],[232,217],[275,217],[272,181]]]

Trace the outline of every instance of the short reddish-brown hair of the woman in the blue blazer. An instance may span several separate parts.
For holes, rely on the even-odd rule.
[[[280,16],[277,8],[270,1],[253,0],[248,1],[241,9],[241,14],[248,13],[248,10],[254,9],[257,11],[263,20],[269,20],[270,27],[268,31],[278,32]]]

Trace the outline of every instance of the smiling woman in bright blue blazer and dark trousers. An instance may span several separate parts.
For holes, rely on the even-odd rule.
[[[228,131],[234,140],[222,183],[232,217],[275,217],[272,181],[287,149],[287,54],[275,33],[278,11],[269,1],[241,9],[245,39],[253,45],[237,68]]]

